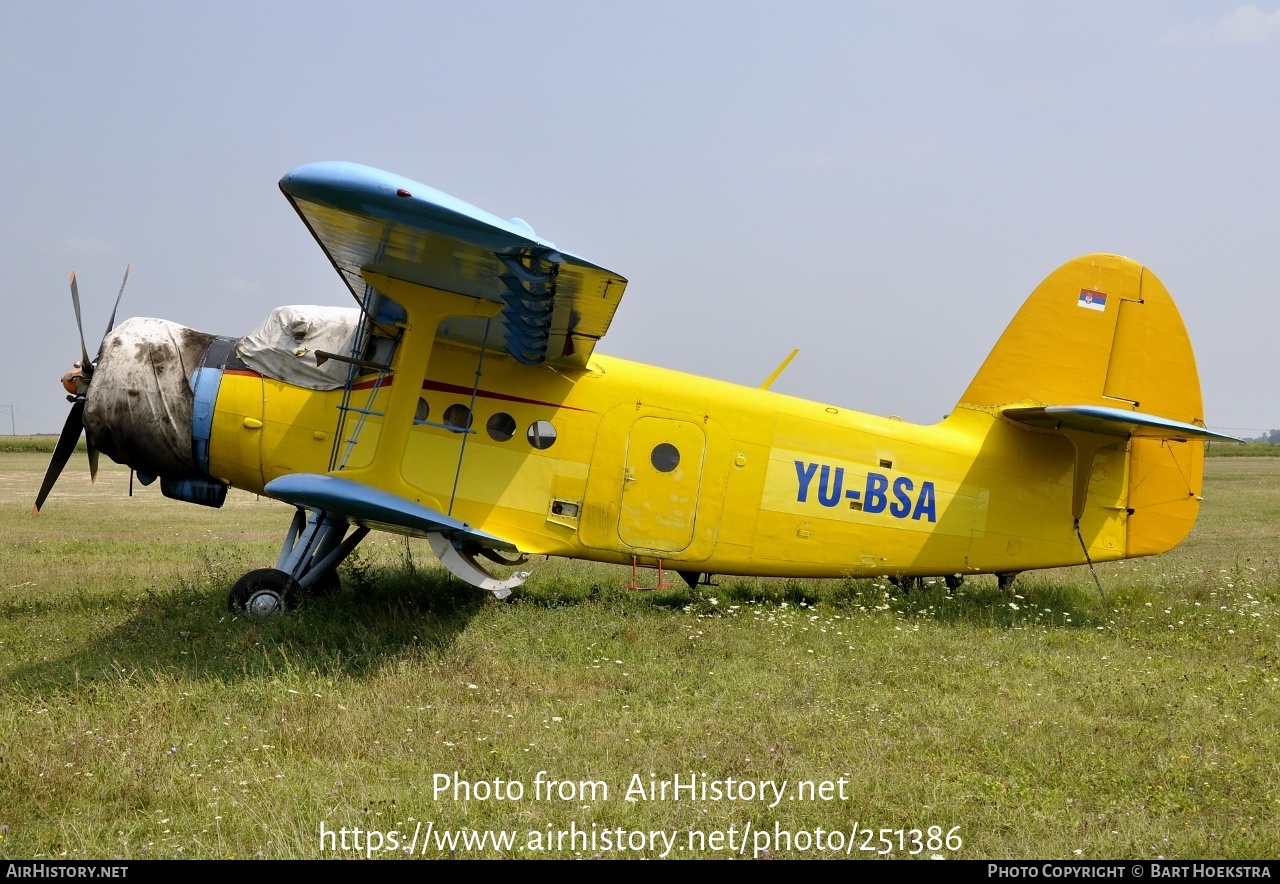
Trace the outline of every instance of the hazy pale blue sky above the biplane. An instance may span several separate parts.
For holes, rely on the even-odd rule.
[[[630,280],[598,352],[932,423],[1024,298],[1143,262],[1210,426],[1280,427],[1280,0],[6,3],[0,434],[120,317],[352,303],[280,194],[349,160]],[[9,408],[12,406],[12,409]]]

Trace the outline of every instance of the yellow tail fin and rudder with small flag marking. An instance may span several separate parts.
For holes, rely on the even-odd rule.
[[[1002,412],[1020,406],[1023,413],[1028,406],[1094,406],[1204,426],[1178,307],[1153,272],[1117,255],[1087,255],[1050,274],[960,404]],[[1187,436],[1132,436],[1126,555],[1172,549],[1196,523],[1204,446]],[[1088,464],[1076,472],[1082,466],[1087,473]]]

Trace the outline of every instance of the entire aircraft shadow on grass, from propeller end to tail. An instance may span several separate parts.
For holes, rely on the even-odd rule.
[[[497,604],[440,568],[407,562],[374,567],[357,559],[343,577],[344,588],[332,596],[308,599],[291,615],[268,619],[212,615],[210,599],[225,592],[230,577],[216,572],[183,577],[148,592],[136,614],[69,654],[15,668],[4,686],[92,693],[122,681],[156,678],[239,681],[291,672],[367,678],[406,659],[431,663],[443,658],[480,610]],[[993,580],[970,580],[956,591],[938,581],[902,592],[876,580],[824,585],[730,580],[699,588],[678,585],[636,594],[608,583],[539,585],[518,592],[516,601],[547,608],[598,605],[620,618],[645,609],[675,614],[695,606],[700,613],[727,615],[730,605],[778,609],[786,604],[803,610],[824,603],[826,610],[844,617],[892,610],[943,627],[1092,629],[1102,623],[1079,587],[1048,580],[1029,581],[1018,595],[998,590]],[[69,604],[93,617],[118,603],[79,596]],[[40,605],[46,606],[50,603]]]

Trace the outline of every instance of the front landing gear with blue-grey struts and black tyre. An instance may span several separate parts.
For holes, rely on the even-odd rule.
[[[233,612],[257,617],[279,614],[300,595],[324,595],[338,588],[338,564],[365,539],[369,528],[351,526],[317,509],[298,507],[284,536],[284,546],[274,568],[251,571],[227,596]]]

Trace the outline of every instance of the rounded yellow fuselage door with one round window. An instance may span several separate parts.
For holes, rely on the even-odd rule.
[[[618,539],[636,551],[680,553],[694,540],[707,436],[689,421],[641,417],[631,425]]]

